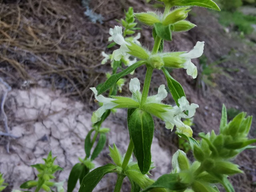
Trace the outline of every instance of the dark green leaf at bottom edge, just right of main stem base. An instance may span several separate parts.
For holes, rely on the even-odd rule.
[[[188,187],[187,184],[181,182],[179,174],[164,174],[160,176],[156,182],[148,186],[141,192],[146,192],[154,188],[166,188],[170,190],[185,190]]]

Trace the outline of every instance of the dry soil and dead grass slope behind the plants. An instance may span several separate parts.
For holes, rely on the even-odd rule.
[[[9,183],[5,192],[34,179],[36,172],[30,165],[42,162],[50,150],[64,168],[57,173],[58,181],[67,180],[78,157],[84,157],[84,138],[90,130],[91,114],[98,108],[89,88],[103,82],[105,72],[110,70],[110,66],[100,64],[99,55],[104,50],[111,52],[106,50],[108,30],[129,6],[135,12],[154,10],[142,0],[95,0],[90,7],[104,16],[104,23],[94,24],[84,16],[85,9],[78,0],[0,0],[0,96],[4,98],[6,94],[3,107],[8,132],[18,137],[0,136],[0,172]],[[232,32],[225,32],[214,12],[204,8],[193,8],[189,20],[198,27],[174,34],[174,40],[166,43],[164,49],[191,50],[197,41],[205,41],[208,61],[229,56],[220,66],[233,69],[226,71],[231,78],[216,75],[217,86],[207,86],[204,91],[198,87],[200,80],[193,80],[185,70],[173,70],[172,76],[182,84],[188,100],[200,106],[194,117],[194,135],[212,129],[218,131],[223,103],[227,108],[256,116],[256,44],[249,37],[240,39]],[[151,30],[142,28],[140,41],[152,48]],[[193,62],[200,74],[199,60]],[[143,67],[136,70],[141,82],[145,72]],[[164,82],[163,74],[155,71],[150,92],[155,93]],[[124,94],[128,94],[127,84],[121,95]],[[166,102],[174,103],[171,96]],[[0,131],[6,132],[5,116],[1,114]],[[110,162],[108,144],[115,142],[125,152],[128,145],[125,120],[126,111],[119,110],[104,122],[111,131],[106,148],[96,158],[96,167]],[[250,137],[256,137],[255,126],[254,118]],[[170,172],[171,154],[177,148],[177,136],[164,129],[164,122],[156,120],[152,158],[157,168],[152,170],[153,178]],[[254,156],[255,150],[250,150],[234,160],[245,172],[231,177],[237,192],[256,191]],[[114,178],[114,174],[106,176],[95,191],[113,191]],[[122,190],[130,190],[128,180]]]

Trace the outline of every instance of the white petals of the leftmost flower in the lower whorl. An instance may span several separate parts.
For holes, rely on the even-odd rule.
[[[117,106],[118,104],[112,102],[112,101],[114,101],[116,99],[106,98],[106,97],[104,97],[102,95],[97,96],[98,91],[96,90],[95,87],[91,87],[90,89],[94,92],[96,100],[98,102],[102,102],[103,103],[103,105],[100,108],[98,108],[98,110],[94,111],[93,114],[92,114],[91,121],[92,121],[92,123],[96,123],[96,122],[101,120],[101,116],[104,114],[104,112],[107,109],[112,109],[115,106]]]

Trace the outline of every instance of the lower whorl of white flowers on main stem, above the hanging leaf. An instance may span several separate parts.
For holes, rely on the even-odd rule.
[[[181,132],[188,137],[192,136],[192,130],[188,125],[185,125],[181,118],[191,118],[198,108],[197,104],[189,104],[188,100],[183,96],[178,100],[179,106],[172,107],[171,105],[162,104],[167,96],[167,91],[164,85],[160,85],[158,88],[158,94],[149,96],[146,99],[146,102],[141,105],[142,94],[140,92],[140,81],[138,78],[133,78],[130,81],[129,89],[132,92],[132,96],[128,97],[119,97],[112,96],[112,98],[106,98],[102,95],[98,95],[96,88],[90,88],[94,94],[96,100],[102,102],[103,105],[98,108],[92,115],[92,123],[100,121],[102,114],[107,109],[112,108],[141,108],[149,114],[152,114],[160,119],[162,119],[167,129],[173,129],[174,125],[177,127],[177,131]],[[188,112],[186,114],[185,112]]]

